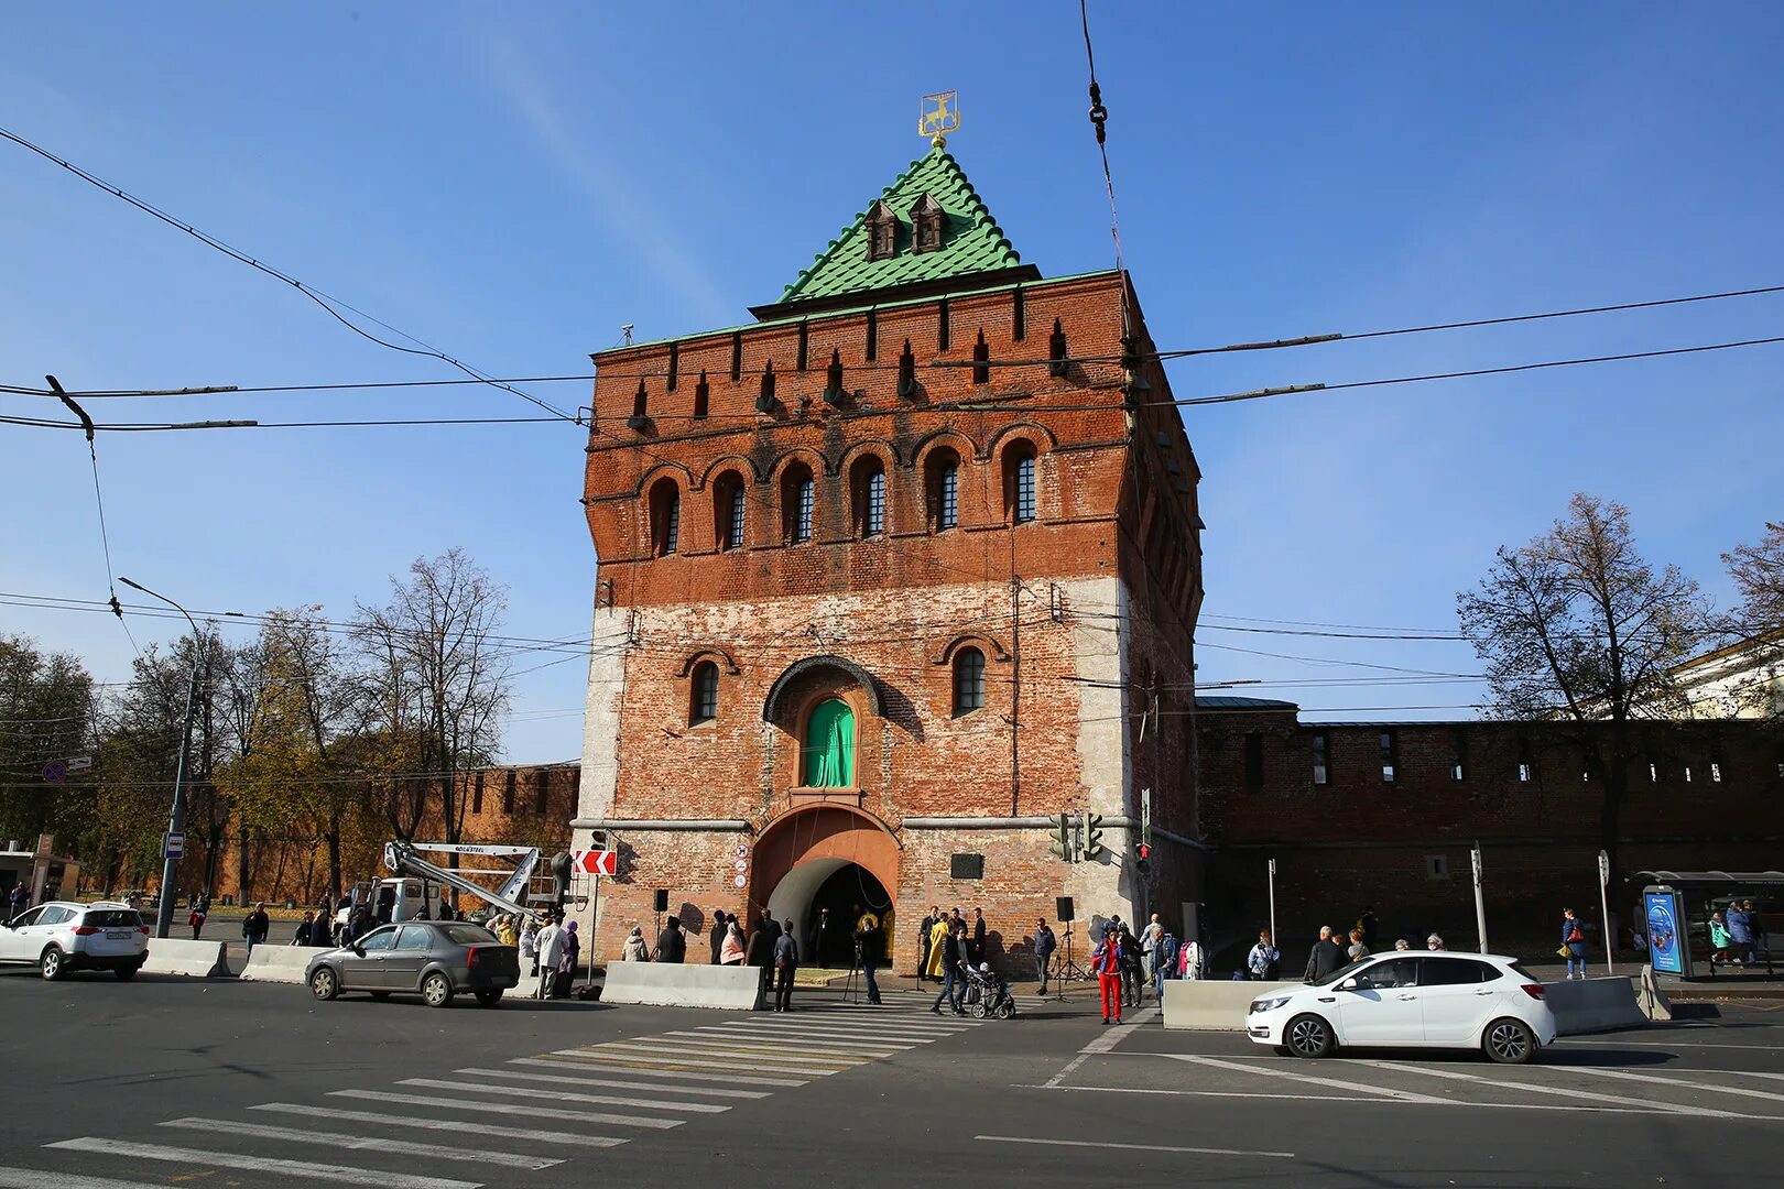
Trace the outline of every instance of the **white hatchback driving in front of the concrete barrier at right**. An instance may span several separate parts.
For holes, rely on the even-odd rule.
[[[1245,1032],[1295,1057],[1359,1048],[1481,1048],[1525,1062],[1556,1039],[1543,984],[1509,957],[1377,954],[1313,986],[1265,991]]]

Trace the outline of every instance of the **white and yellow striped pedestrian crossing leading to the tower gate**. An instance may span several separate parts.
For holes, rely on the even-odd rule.
[[[80,1171],[0,1168],[0,1189],[145,1189],[211,1177],[368,1189],[521,1184],[576,1155],[897,1061],[985,1023],[929,1014],[926,995],[887,991],[885,1000],[806,996],[787,1014],[685,1020],[651,1036],[344,1086],[319,1102],[252,1102],[241,1118],[182,1114],[153,1123],[150,1136],[75,1136],[45,1152],[78,1157]]]

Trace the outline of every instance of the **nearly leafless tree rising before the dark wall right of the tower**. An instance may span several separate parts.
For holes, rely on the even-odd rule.
[[[1684,709],[1672,667],[1706,631],[1697,583],[1672,565],[1654,572],[1627,508],[1579,494],[1549,533],[1500,547],[1481,585],[1456,595],[1456,611],[1486,663],[1493,715],[1579,724],[1588,770],[1602,774],[1598,832],[1615,879],[1638,758],[1631,722]]]

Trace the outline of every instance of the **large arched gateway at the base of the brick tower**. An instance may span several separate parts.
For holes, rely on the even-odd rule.
[[[806,804],[762,831],[749,898],[794,922],[808,964],[847,966],[856,906],[880,916],[888,941],[897,936],[897,877],[899,843],[885,822],[851,806]]]

